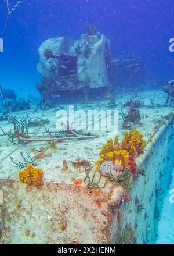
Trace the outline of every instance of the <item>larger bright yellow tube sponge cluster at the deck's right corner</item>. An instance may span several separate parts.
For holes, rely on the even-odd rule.
[[[107,140],[107,144],[102,147],[100,159],[96,162],[97,171],[106,161],[112,161],[114,169],[135,170],[135,155],[143,152],[146,147],[146,140],[143,140],[143,135],[137,130],[126,131],[122,142],[118,142],[118,136],[115,140]]]

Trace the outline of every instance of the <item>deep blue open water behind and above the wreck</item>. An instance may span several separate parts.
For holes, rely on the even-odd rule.
[[[9,8],[16,2],[9,1]],[[0,31],[6,13],[4,0]],[[79,38],[86,24],[95,25],[110,38],[113,56],[133,52],[157,79],[172,79],[174,58],[168,48],[173,37],[173,13],[172,0],[23,0],[9,19],[0,59],[1,84],[15,88],[19,97],[28,91],[37,94],[39,45],[51,37]],[[24,88],[22,93],[20,87]]]

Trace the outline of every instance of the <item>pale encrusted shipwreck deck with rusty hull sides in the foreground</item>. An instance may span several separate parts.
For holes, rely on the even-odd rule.
[[[128,152],[134,154],[132,150],[135,150],[121,149],[119,144],[124,132],[129,131],[128,127],[122,128],[125,122],[122,112],[130,112],[124,106],[130,94],[116,101],[120,113],[118,141],[108,131],[81,131],[81,134],[68,129],[66,134],[61,134],[55,126],[59,107],[19,112],[13,119],[1,122],[0,186],[4,197],[0,206],[1,243],[153,242],[162,207],[162,190],[170,177],[165,165],[173,164],[169,158],[173,132],[172,128],[166,128],[172,123],[173,108],[165,106],[166,97],[159,93],[149,91],[135,99],[143,102],[139,108],[141,120],[137,122],[133,116],[129,128],[143,134],[143,138],[138,137],[146,140],[147,147],[144,148],[143,140],[143,147],[135,147],[138,155],[135,161],[129,162],[132,173],[122,172],[121,176],[120,164],[128,166]],[[155,101],[150,100],[151,95]],[[75,106],[99,111],[110,108],[104,101]],[[115,148],[111,148],[111,139]],[[100,155],[103,150],[104,159]],[[104,160],[113,162],[114,150],[117,153],[124,150],[123,158],[116,159],[116,172],[110,165],[111,172],[107,174],[103,163]]]

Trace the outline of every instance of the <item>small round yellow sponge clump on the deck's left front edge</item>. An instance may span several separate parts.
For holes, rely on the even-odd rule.
[[[44,172],[42,169],[35,169],[32,165],[19,172],[20,182],[28,185],[41,186],[43,184]]]

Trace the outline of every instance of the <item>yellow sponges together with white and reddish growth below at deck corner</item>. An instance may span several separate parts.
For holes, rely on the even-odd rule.
[[[114,141],[107,140],[106,145],[103,145],[100,159],[96,162],[96,171],[106,177],[104,186],[107,182],[113,182],[109,194],[109,205],[113,206],[131,200],[129,189],[132,188],[133,179],[137,178],[139,170],[135,159],[145,147],[146,140],[143,140],[143,135],[137,130],[126,131],[120,143],[117,136]],[[97,186],[98,184],[99,182]]]

